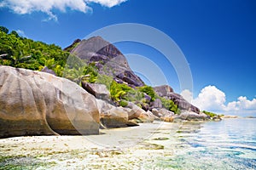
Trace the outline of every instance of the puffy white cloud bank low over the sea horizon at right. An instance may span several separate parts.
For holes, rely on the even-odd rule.
[[[226,95],[215,86],[207,86],[201,89],[201,93],[193,99],[189,90],[181,93],[184,99],[190,99],[193,105],[201,110],[214,111],[218,113],[256,113],[256,99],[249,100],[240,96],[236,101],[225,104]]]

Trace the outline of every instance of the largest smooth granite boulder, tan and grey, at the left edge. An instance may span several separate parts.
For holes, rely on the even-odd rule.
[[[96,99],[74,82],[0,65],[0,138],[98,134]]]

